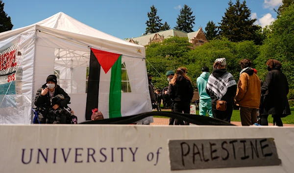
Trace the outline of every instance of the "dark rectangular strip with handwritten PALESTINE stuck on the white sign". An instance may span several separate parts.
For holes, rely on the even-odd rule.
[[[273,138],[170,140],[171,170],[277,166]]]

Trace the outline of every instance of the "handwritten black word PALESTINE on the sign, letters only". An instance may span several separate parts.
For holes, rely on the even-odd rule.
[[[193,146],[190,146],[186,142],[182,142],[182,164],[185,165],[185,159],[192,159],[195,163],[196,160],[197,162],[209,162],[218,159],[225,161],[230,157],[233,157],[234,160],[270,157],[272,152],[267,150],[269,145],[266,142],[267,139],[255,141],[227,140],[222,141],[220,145],[209,142],[208,146],[205,147],[204,144],[197,145],[194,143]]]

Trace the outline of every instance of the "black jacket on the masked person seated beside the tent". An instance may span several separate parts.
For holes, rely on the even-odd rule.
[[[54,105],[50,104],[49,92],[45,96],[41,95],[42,88],[45,89],[46,84],[44,84],[41,88],[38,89],[36,97],[35,97],[35,105],[37,107],[45,107],[45,108],[49,108],[49,107],[54,106]],[[55,88],[55,92],[54,92],[53,97],[55,97],[57,95],[63,95],[64,96],[64,99],[61,100],[60,102],[58,102],[57,104],[61,108],[64,108],[65,106],[67,106],[67,104],[70,102],[71,98],[69,97],[69,95],[62,88],[60,88],[59,85],[57,85],[57,88]]]

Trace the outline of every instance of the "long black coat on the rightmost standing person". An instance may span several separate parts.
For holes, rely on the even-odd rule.
[[[291,114],[287,95],[289,93],[288,81],[280,69],[274,68],[269,71],[261,87],[264,95],[263,114],[286,117]]]

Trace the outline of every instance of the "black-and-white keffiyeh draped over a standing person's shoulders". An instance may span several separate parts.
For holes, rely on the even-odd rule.
[[[226,94],[228,88],[233,85],[237,85],[233,75],[226,72],[221,77],[215,77],[213,74],[210,74],[206,88],[218,99],[221,99]]]

